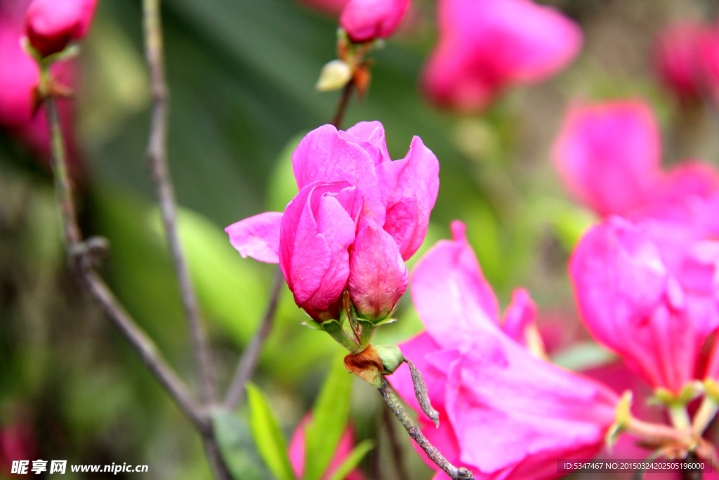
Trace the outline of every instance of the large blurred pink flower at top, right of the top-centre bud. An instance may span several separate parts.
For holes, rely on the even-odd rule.
[[[484,109],[509,86],[561,71],[582,46],[577,24],[529,0],[439,0],[438,9],[423,87],[441,107]]]

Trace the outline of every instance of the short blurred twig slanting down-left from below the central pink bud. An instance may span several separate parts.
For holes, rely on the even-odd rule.
[[[275,320],[275,312],[277,312],[277,305],[280,299],[280,292],[285,282],[285,278],[282,272],[278,268],[275,272],[275,281],[273,284],[272,294],[270,294],[270,303],[267,304],[267,311],[265,311],[265,317],[262,317],[260,327],[257,328],[255,337],[249,342],[247,348],[244,349],[242,357],[237,363],[237,370],[234,373],[232,384],[230,384],[225,399],[225,407],[227,409],[234,409],[237,405],[242,402],[244,397],[244,385],[247,384],[249,379],[252,378],[252,373],[257,368],[257,362],[260,360],[260,353],[262,352],[262,344],[265,343],[267,335],[270,335],[272,325]]]

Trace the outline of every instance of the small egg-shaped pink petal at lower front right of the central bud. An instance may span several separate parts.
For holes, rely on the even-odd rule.
[[[370,320],[387,317],[407,289],[409,276],[395,240],[380,227],[359,230],[349,257],[349,296]]]

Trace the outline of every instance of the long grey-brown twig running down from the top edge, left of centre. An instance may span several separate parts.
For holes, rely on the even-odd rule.
[[[187,263],[180,245],[177,229],[175,193],[170,181],[167,162],[168,137],[168,87],[165,83],[165,66],[162,60],[162,23],[160,20],[160,0],[144,0],[145,53],[150,66],[152,81],[152,123],[150,140],[147,145],[147,163],[150,166],[155,193],[160,203],[162,223],[165,227],[168,248],[175,266],[180,295],[195,350],[203,404],[214,402],[214,379],[207,337],[200,320],[200,312],[195,291],[190,280]]]

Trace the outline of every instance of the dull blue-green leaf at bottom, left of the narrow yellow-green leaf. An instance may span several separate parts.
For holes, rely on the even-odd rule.
[[[234,480],[267,479],[269,474],[262,466],[244,418],[221,409],[213,413],[212,425],[220,453]]]

